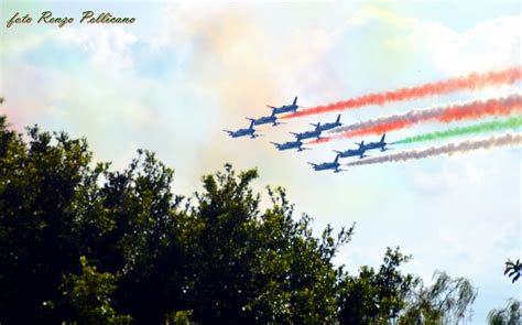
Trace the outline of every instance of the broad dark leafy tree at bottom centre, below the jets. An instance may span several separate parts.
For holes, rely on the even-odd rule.
[[[236,175],[231,165],[203,178],[183,227],[187,246],[187,299],[202,323],[330,323],[336,316],[331,259],[349,240],[328,227],[314,238],[311,218],[293,221],[293,207],[278,188],[272,207],[259,210],[249,184],[254,170]]]

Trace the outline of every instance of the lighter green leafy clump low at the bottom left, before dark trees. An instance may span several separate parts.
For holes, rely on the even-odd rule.
[[[78,322],[72,324],[130,324],[132,317],[119,315],[111,305],[118,275],[100,273],[89,266],[85,257],[79,258],[81,273],[69,274],[61,285],[63,294],[77,313]]]

